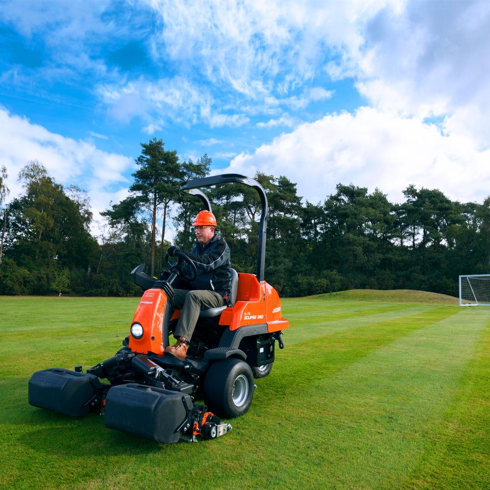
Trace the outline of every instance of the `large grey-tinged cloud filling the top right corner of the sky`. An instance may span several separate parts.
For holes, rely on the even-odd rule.
[[[372,106],[490,140],[490,3],[389,4],[361,25],[365,46],[344,49],[332,75],[354,76]],[[335,70],[337,70],[336,73]]]

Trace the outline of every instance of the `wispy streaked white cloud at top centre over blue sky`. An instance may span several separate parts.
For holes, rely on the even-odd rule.
[[[212,83],[248,96],[269,92],[280,74],[283,93],[311,80],[325,47],[355,52],[364,42],[358,24],[386,3],[147,0],[162,20],[156,58],[191,64]]]

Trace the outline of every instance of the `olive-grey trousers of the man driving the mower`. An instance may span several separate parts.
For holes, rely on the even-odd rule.
[[[226,304],[221,294],[215,291],[187,291],[185,289],[175,289],[174,291],[173,307],[180,310],[180,318],[173,332],[176,339],[185,337],[187,341],[190,341],[196,328],[199,312]]]

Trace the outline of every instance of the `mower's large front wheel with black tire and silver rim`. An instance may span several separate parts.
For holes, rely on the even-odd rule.
[[[237,388],[240,391],[237,391]],[[208,410],[218,417],[239,417],[250,408],[253,389],[253,373],[250,366],[241,359],[223,359],[214,362],[206,373],[204,403]],[[238,396],[237,400],[237,395],[241,393],[243,396]]]

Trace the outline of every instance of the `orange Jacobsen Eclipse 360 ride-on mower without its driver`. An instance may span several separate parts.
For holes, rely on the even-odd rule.
[[[99,410],[106,427],[158,442],[215,439],[231,429],[219,417],[245,414],[254,377],[269,374],[275,342],[284,347],[281,334],[289,327],[277,292],[264,281],[267,197],[257,181],[237,174],[191,180],[181,190],[199,197],[211,211],[198,188],[233,182],[255,188],[260,196],[257,273],[231,270],[229,304],[201,311],[186,360],[164,356],[180,314],[170,306],[172,282],[196,276],[194,262],[179,250],[175,264],[166,256],[166,280],[145,274],[144,264],[132,271],[144,293],[123,348],[85,373],[81,366],[35,372],[29,380],[31,405],[74,417]],[[201,397],[205,405],[194,402]]]

